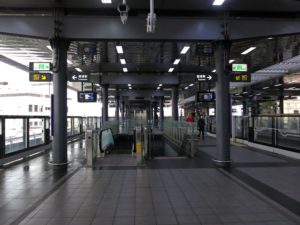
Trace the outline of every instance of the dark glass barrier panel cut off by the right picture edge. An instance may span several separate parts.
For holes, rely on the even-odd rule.
[[[278,147],[300,151],[300,118],[276,118],[276,144]]]

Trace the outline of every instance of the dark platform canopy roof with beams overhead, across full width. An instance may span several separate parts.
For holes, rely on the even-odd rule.
[[[121,2],[1,0],[0,60],[24,70],[28,70],[29,62],[51,61],[48,39],[53,37],[54,21],[59,21],[60,35],[71,40],[70,74],[80,68],[92,74],[93,83],[108,83],[126,93],[128,82],[133,91],[141,93],[157,90],[162,84],[160,90],[167,95],[171,87],[179,85],[180,93],[189,96],[196,90],[196,85],[191,86],[196,75],[215,69],[216,41],[232,41],[230,59],[249,64],[250,72],[255,73],[254,82],[286,76],[288,69],[274,76],[267,68],[300,54],[297,0],[225,0],[221,6],[213,6],[214,0],[155,0],[154,33],[146,32],[150,1],[127,0],[130,10],[126,24],[117,10]],[[116,46],[122,46],[124,53],[118,54]],[[187,53],[180,54],[186,46],[190,47]],[[241,55],[249,47],[256,49]],[[178,65],[173,64],[176,59],[180,59]],[[174,68],[172,73],[170,68]],[[233,89],[244,86],[249,84],[232,84]],[[207,90],[207,84],[201,84],[200,89]]]

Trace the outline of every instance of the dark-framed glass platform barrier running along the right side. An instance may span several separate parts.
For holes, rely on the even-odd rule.
[[[234,138],[300,152],[300,115],[234,116]],[[208,119],[208,131],[216,133],[215,117]]]

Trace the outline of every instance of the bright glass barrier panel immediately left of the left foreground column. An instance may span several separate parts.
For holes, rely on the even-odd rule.
[[[45,143],[44,119],[29,119],[29,147]]]

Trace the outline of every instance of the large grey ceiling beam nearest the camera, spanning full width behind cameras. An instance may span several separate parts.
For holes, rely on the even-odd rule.
[[[144,17],[133,17],[124,26],[119,17],[65,16],[62,35],[72,40],[222,40],[224,18],[162,17],[157,30],[149,35]],[[225,20],[231,39],[245,39],[300,33],[298,19],[232,19]],[[8,26],[9,24],[9,26]],[[47,16],[4,16],[0,33],[50,38],[53,18]],[[180,29],[181,28],[181,29]]]

